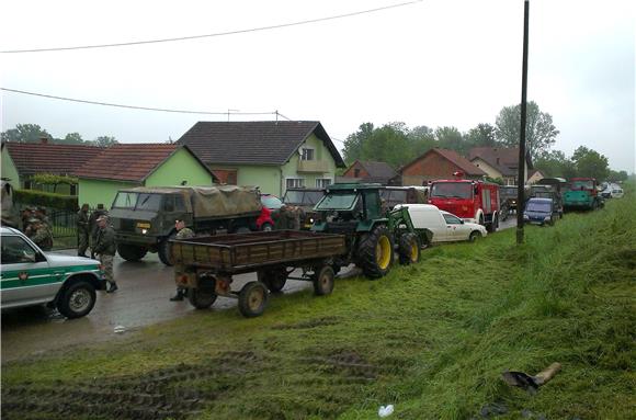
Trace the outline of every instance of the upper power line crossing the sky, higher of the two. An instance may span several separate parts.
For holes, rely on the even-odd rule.
[[[305,25],[305,24],[309,24],[309,23],[332,21],[332,20],[336,20],[336,19],[351,18],[351,16],[356,16],[356,15],[360,15],[360,14],[375,13],[375,12],[379,12],[379,11],[383,11],[383,10],[401,8],[401,7],[405,7],[405,5],[410,5],[410,4],[419,3],[421,1],[423,1],[423,0],[413,0],[413,1],[408,1],[408,2],[404,2],[404,3],[384,5],[382,8],[367,9],[367,10],[361,10],[361,11],[357,11],[357,12],[338,14],[338,15],[333,15],[333,16],[309,19],[309,20],[306,20],[306,21],[298,21],[298,22],[291,22],[291,23],[282,23],[282,24],[279,24],[279,25],[251,27],[251,29],[247,29],[247,30],[237,30],[237,31],[229,31],[229,32],[218,32],[218,33],[206,34],[206,35],[191,35],[191,36],[180,36],[180,37],[175,37],[175,38],[162,38],[162,39],[150,39],[150,41],[136,41],[136,42],[116,43],[116,44],[83,45],[83,46],[72,46],[72,47],[33,48],[33,49],[9,49],[9,50],[0,52],[0,54],[44,53],[44,52],[61,52],[61,50],[73,50],[73,49],[125,47],[125,46],[133,46],[133,45],[157,44],[157,43],[171,43],[171,42],[178,42],[178,41],[190,41],[190,39],[209,38],[209,37],[216,37],[216,36],[245,34],[245,33],[258,32],[258,31],[270,31],[270,30],[277,30],[277,29],[281,29],[281,27],[298,26],[298,25]]]

